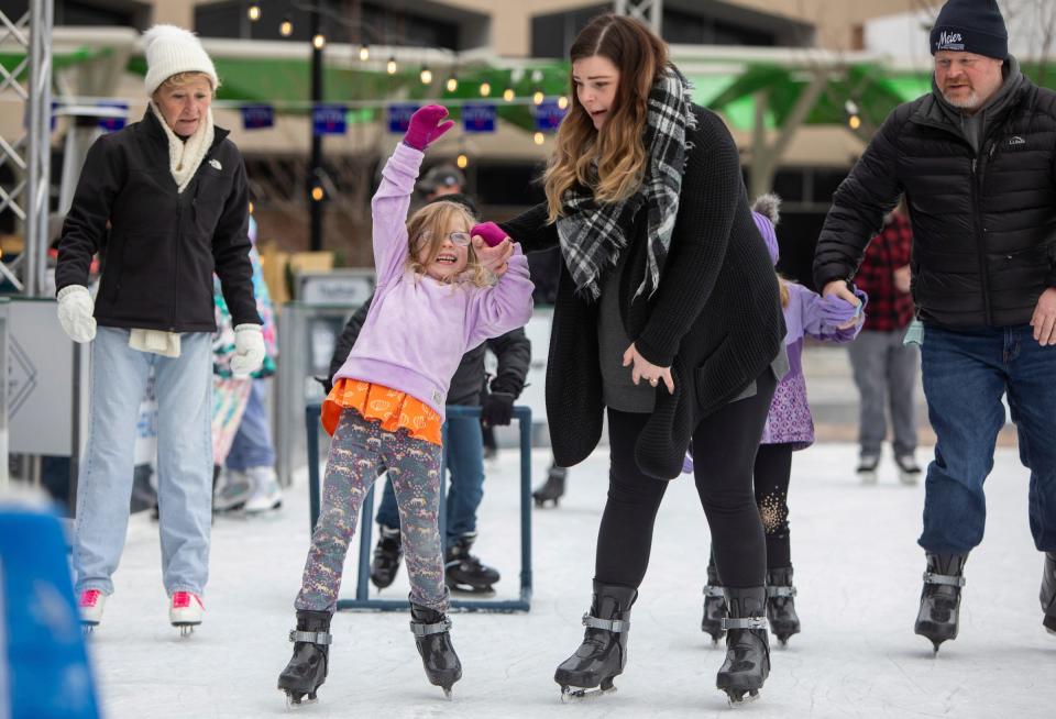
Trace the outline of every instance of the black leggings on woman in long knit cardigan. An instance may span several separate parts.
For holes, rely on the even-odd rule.
[[[766,541],[752,494],[752,468],[777,380],[768,368],[754,397],[732,402],[701,420],[693,432],[696,491],[712,530],[719,576],[728,587],[766,583]],[[652,526],[668,483],[641,473],[635,462],[648,414],[608,410],[608,501],[597,534],[594,578],[638,587],[649,565]]]

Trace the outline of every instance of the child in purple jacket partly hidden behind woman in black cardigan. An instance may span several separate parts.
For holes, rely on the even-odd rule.
[[[778,222],[780,200],[765,195],[756,200],[752,217],[767,242],[770,258],[778,263]],[[762,431],[755,465],[755,493],[762,528],[767,539],[767,618],[770,629],[781,644],[800,631],[792,586],[792,558],[789,547],[789,477],[792,472],[792,452],[814,443],[814,420],[806,401],[806,381],[803,378],[803,338],[810,335],[827,342],[850,342],[861,331],[861,311],[868,299],[856,290],[860,305],[853,306],[836,297],[822,298],[802,285],[779,277],[781,303],[788,333],[784,346],[789,356],[789,373],[778,383],[770,402],[770,412]],[[704,619],[701,629],[717,642],[725,633],[722,619],[726,616],[714,557],[707,565],[707,586],[704,587]]]

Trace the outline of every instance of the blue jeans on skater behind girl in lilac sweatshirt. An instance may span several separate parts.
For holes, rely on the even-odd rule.
[[[448,419],[448,468],[451,483],[447,498],[447,543],[462,534],[476,531],[476,508],[484,498],[484,435],[475,417]],[[399,529],[396,493],[391,482],[385,483],[382,502],[377,508],[377,523]]]

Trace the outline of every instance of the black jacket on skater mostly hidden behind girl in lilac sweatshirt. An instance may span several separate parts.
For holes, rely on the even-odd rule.
[[[338,338],[333,356],[330,358],[330,372],[327,375],[327,392],[333,385],[333,376],[349,357],[349,352],[360,336],[366,313],[374,300],[372,295],[349,318],[341,336]],[[525,378],[528,376],[528,366],[531,364],[531,342],[522,328],[510,330],[497,338],[485,340],[483,344],[462,355],[459,368],[451,377],[451,388],[448,390],[448,403],[463,407],[476,407],[481,403],[481,391],[484,389],[484,350],[487,347],[495,353],[498,360],[498,369],[490,385],[490,391],[506,392],[516,399],[525,389]]]

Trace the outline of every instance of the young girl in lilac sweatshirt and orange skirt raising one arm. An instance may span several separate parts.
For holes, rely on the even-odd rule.
[[[375,297],[323,403],[322,424],[333,440],[322,509],[294,602],[294,655],[278,677],[295,704],[315,699],[326,679],[341,571],[380,465],[399,505],[410,628],[426,675],[447,695],[462,676],[446,613],[440,428],[462,355],[528,321],[532,284],[519,246],[492,223],[474,225],[463,206],[433,202],[407,219],[424,152],[454,124],[442,122],[447,114],[440,106],[415,112],[372,201]],[[495,274],[477,258],[484,242],[496,248],[490,252]]]

